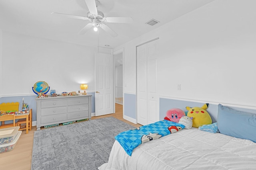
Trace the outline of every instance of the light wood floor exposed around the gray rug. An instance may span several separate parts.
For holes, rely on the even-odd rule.
[[[140,124],[134,124],[130,121],[123,119],[123,106],[116,104],[116,113],[103,115],[98,117],[92,117],[92,119],[99,119],[102,117],[113,116],[121,121],[124,121],[134,127],[140,127]],[[42,129],[42,128],[41,128]],[[30,170],[32,160],[32,147],[34,131],[36,126],[32,127],[32,130],[26,134],[26,131],[22,131],[20,139],[16,143],[15,148],[10,152],[0,154],[0,170]]]

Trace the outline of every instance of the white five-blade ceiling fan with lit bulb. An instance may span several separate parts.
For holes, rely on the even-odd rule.
[[[52,12],[54,15],[58,16],[66,16],[68,18],[75,18],[80,20],[89,20],[91,23],[88,23],[83,29],[80,30],[79,34],[84,35],[89,29],[94,27],[94,31],[98,31],[98,27],[102,28],[104,31],[109,33],[112,37],[117,37],[118,34],[112,30],[108,25],[103,22],[111,22],[111,23],[132,23],[133,19],[131,17],[104,17],[103,12],[97,10],[100,2],[98,0],[85,0],[86,5],[88,7],[87,17],[84,16],[75,16],[70,14],[62,14]]]

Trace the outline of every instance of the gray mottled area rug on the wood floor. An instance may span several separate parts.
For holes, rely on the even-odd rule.
[[[97,170],[114,137],[135,127],[106,117],[34,132],[32,170]]]

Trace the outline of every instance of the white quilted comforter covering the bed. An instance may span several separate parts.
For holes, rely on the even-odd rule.
[[[245,129],[246,130],[246,129]],[[220,133],[183,129],[143,143],[128,156],[115,141],[99,170],[255,170],[256,143]]]

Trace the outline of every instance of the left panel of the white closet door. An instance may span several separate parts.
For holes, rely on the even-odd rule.
[[[147,44],[137,47],[137,122],[146,125],[147,111]]]

